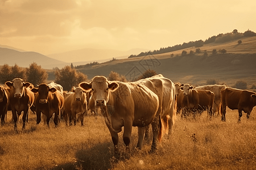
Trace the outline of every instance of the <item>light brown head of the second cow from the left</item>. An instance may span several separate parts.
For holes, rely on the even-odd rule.
[[[31,84],[26,82],[23,79],[15,78],[11,82],[5,82],[6,86],[11,88],[11,91],[14,92],[14,97],[20,98],[24,93],[24,87],[30,87]]]

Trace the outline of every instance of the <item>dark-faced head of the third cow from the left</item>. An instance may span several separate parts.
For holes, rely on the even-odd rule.
[[[35,94],[38,93],[39,103],[46,104],[48,103],[48,95],[50,93],[55,93],[57,89],[55,87],[49,88],[47,84],[40,84],[38,88],[32,88],[31,90]]]

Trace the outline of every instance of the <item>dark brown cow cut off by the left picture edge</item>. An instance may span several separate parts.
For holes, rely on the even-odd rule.
[[[0,86],[0,117],[1,117],[1,125],[5,123],[5,116],[8,108],[9,96],[3,86]]]

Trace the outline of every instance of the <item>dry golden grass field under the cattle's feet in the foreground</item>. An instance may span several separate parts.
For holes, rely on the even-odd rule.
[[[154,154],[151,141],[137,150],[137,128],[133,128],[131,155],[125,158],[122,133],[119,134],[121,160],[113,158],[113,143],[104,118],[85,117],[85,125],[66,127],[62,122],[47,128],[36,126],[36,116],[29,114],[26,130],[14,131],[11,113],[0,126],[0,169],[255,169],[256,109],[241,124],[238,112],[227,109],[226,122],[212,121],[204,112],[196,120],[181,120],[177,115],[172,137],[164,136]],[[22,122],[22,121],[20,121]]]

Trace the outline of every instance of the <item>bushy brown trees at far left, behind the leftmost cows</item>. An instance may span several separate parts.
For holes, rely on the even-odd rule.
[[[48,74],[35,62],[31,63],[29,68],[22,68],[16,64],[12,67],[7,64],[3,65],[0,70],[0,83],[4,84],[14,78],[22,78],[36,86],[36,84],[46,83]]]

